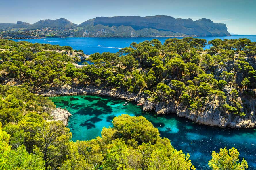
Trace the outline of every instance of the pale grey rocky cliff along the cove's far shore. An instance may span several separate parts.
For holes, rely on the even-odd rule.
[[[112,96],[126,100],[143,103],[143,111],[152,111],[156,114],[177,114],[178,116],[188,118],[196,123],[206,124],[210,126],[232,127],[232,128],[254,128],[256,125],[255,100],[248,101],[251,111],[247,116],[230,115],[219,107],[218,100],[205,103],[200,110],[189,110],[182,103],[177,104],[175,101],[170,102],[152,102],[148,100],[142,93],[133,94],[123,90],[99,88],[95,86],[87,86],[86,88],[58,88],[44,91],[37,89],[38,94],[44,96],[56,95],[76,95],[76,94],[97,94],[102,96]]]

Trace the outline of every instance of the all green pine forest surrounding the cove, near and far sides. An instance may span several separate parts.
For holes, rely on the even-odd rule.
[[[195,169],[190,155],[175,150],[142,116],[115,117],[101,137],[73,142],[62,122],[48,121],[54,103],[34,93],[90,85],[187,110],[214,101],[223,114],[249,116],[255,112],[247,103],[256,96],[256,43],[214,39],[203,50],[206,44],[191,37],[164,44],[153,39],[116,54],[91,54],[87,60],[93,64],[77,68],[81,50],[0,40],[0,169]],[[235,148],[213,151],[209,167],[247,169],[238,155]]]

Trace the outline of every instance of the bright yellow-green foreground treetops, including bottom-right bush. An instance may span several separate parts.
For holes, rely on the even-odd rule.
[[[161,138],[158,129],[142,116],[115,117],[113,128],[102,129],[102,137],[76,142],[70,141],[72,135],[62,122],[42,120],[42,116],[32,113],[17,125],[9,123],[0,128],[1,169],[195,170],[190,155],[175,150],[169,139]],[[230,155],[226,148],[220,151],[217,154],[213,151],[211,168],[248,168],[244,159],[237,163],[236,149],[230,149]]]

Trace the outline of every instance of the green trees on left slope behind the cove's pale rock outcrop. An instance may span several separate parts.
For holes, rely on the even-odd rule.
[[[0,85],[0,95],[0,122],[3,126],[17,123],[24,114],[34,112],[48,118],[48,111],[56,107],[48,97],[37,96],[24,87]]]

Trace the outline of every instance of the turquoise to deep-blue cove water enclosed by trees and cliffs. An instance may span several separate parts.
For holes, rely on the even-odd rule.
[[[256,169],[256,129],[218,128],[194,123],[175,114],[154,115],[141,106],[108,96],[76,95],[50,97],[57,107],[66,108],[72,116],[68,128],[72,140],[90,140],[101,136],[103,127],[112,126],[112,119],[121,114],[144,116],[159,129],[161,137],[170,139],[177,150],[190,154],[196,169],[207,170],[212,151],[235,147],[240,160],[244,157],[249,170]]]

